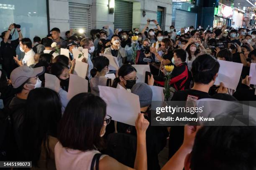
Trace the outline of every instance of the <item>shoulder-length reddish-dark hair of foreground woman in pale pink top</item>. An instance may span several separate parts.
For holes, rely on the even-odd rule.
[[[68,103],[59,124],[59,141],[65,148],[102,148],[100,131],[106,116],[106,103],[91,93],[75,95]]]

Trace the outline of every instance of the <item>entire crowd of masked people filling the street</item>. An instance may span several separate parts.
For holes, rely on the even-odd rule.
[[[150,22],[156,27],[149,28]],[[18,31],[13,40],[12,32]],[[0,160],[32,161],[34,170],[248,170],[255,169],[255,126],[151,126],[152,89],[164,87],[166,69],[173,94],[168,100],[214,98],[256,100],[249,70],[256,63],[256,30],[221,28],[161,30],[147,20],[140,31],[91,30],[84,37],[73,30],[60,36],[52,28],[46,37],[23,37],[11,24],[0,44]],[[56,47],[54,46],[56,43]],[[69,75],[76,59],[72,49],[88,49],[87,93],[67,99]],[[58,48],[69,50],[69,57]],[[17,52],[19,51],[19,52]],[[110,70],[117,57],[119,69]],[[218,60],[243,64],[237,89],[214,85]],[[149,65],[147,83],[137,82],[132,65]],[[106,77],[115,73],[115,79]],[[59,79],[59,90],[44,87],[44,74]],[[135,126],[112,120],[100,97],[100,86],[139,96],[141,113]],[[118,107],[118,106],[117,106]],[[158,155],[169,141],[169,160],[161,168]]]

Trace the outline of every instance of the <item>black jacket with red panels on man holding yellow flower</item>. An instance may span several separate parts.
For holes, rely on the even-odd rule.
[[[184,90],[186,86],[189,85],[189,80],[190,78],[187,63],[183,62],[177,67],[174,67],[169,84],[172,85],[175,90]],[[155,80],[155,82],[164,86],[164,81]]]

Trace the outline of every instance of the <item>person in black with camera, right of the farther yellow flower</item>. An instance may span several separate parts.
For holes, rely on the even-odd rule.
[[[155,61],[155,55],[150,52],[150,40],[147,38],[142,42],[143,47],[141,50],[138,50],[136,56],[136,64],[148,64]],[[150,62],[145,62],[144,58],[147,58]]]

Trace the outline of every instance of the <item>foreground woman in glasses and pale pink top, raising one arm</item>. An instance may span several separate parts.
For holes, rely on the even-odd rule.
[[[74,96],[66,107],[59,126],[59,142],[55,146],[57,170],[130,170],[108,155],[102,155],[102,136],[111,117],[106,103],[90,93]],[[137,153],[134,168],[147,169],[146,129],[148,121],[139,113],[136,120]],[[96,161],[95,161],[95,158]],[[95,163],[96,162],[96,163]]]

